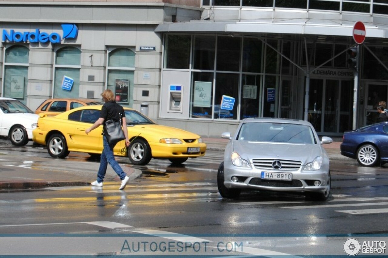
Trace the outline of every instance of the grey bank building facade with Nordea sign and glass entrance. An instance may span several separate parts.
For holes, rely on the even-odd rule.
[[[0,5],[1,93],[31,109],[111,88],[122,105],[203,137],[247,117],[304,119],[341,136],[376,122],[388,99],[382,0]],[[348,64],[356,21],[366,34],[357,70]]]

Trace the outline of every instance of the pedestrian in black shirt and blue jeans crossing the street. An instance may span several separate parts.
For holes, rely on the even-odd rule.
[[[104,121],[113,119],[114,122],[117,122],[121,120],[121,125],[123,126],[123,131],[125,135],[125,144],[128,147],[129,139],[128,139],[128,131],[126,129],[124,108],[116,103],[116,101],[114,100],[114,94],[110,89],[106,89],[101,94],[101,96],[105,104],[102,106],[100,118],[90,128],[85,130],[86,134],[96,129],[100,125],[104,124]],[[102,182],[104,181],[107,165],[109,163],[109,165],[111,165],[114,172],[116,172],[116,174],[119,175],[121,179],[121,186],[119,189],[123,190],[126,184],[128,183],[129,177],[125,174],[123,169],[114,159],[113,148],[115,144],[109,144],[104,134],[102,136],[102,143],[104,145],[104,149],[102,150],[102,153],[101,153],[100,168],[98,170],[97,180],[92,182],[92,186],[102,187]]]

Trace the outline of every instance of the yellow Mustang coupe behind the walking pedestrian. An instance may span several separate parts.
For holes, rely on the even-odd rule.
[[[33,130],[33,141],[46,145],[51,157],[64,158],[70,151],[86,152],[91,156],[102,153],[102,126],[85,134],[100,117],[102,105],[74,108],[57,113],[41,113]],[[128,156],[134,165],[145,165],[151,158],[168,159],[175,164],[187,158],[205,155],[202,138],[182,129],[155,124],[132,108],[124,108],[130,146],[120,141],[114,147],[117,156]]]

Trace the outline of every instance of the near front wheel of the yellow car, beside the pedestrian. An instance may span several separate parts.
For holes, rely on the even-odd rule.
[[[133,165],[147,165],[152,158],[151,147],[144,139],[135,139],[128,147],[128,158]]]

